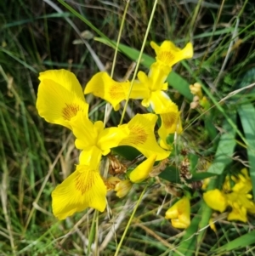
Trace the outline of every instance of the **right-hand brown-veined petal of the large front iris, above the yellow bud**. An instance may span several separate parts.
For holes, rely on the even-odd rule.
[[[120,126],[127,132],[127,137],[119,145],[130,145],[149,158],[156,154],[156,161],[169,156],[169,151],[164,151],[156,142],[154,127],[157,116],[155,114],[137,114],[130,122]]]

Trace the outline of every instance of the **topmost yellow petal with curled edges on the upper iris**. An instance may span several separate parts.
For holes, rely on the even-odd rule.
[[[156,61],[160,65],[172,67],[178,61],[190,59],[193,57],[193,47],[191,43],[187,43],[183,49],[174,45],[171,41],[164,41],[159,47],[156,43],[151,42],[150,46],[156,52]]]

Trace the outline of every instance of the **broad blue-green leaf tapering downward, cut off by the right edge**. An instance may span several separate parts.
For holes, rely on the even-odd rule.
[[[238,114],[241,119],[246,141],[248,142],[246,150],[252,179],[252,193],[253,198],[255,198],[255,108],[251,103],[240,105]]]

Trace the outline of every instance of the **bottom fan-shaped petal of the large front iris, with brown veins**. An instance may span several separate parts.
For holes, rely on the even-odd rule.
[[[78,165],[77,170],[52,193],[54,216],[65,219],[88,207],[103,212],[106,207],[105,196],[106,187],[99,170]]]

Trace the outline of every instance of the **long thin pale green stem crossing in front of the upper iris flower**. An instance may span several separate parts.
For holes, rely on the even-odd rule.
[[[137,75],[137,73],[138,73],[139,63],[140,63],[140,61],[141,61],[141,59],[142,59],[142,55],[143,55],[143,52],[144,52],[145,43],[146,43],[147,37],[148,37],[148,35],[149,35],[150,26],[151,26],[151,23],[152,23],[152,20],[153,20],[155,11],[156,11],[157,2],[158,2],[158,1],[155,0],[154,5],[153,5],[153,9],[152,9],[151,14],[150,14],[150,20],[149,20],[149,23],[148,23],[148,26],[147,26],[147,29],[146,29],[146,32],[145,32],[144,42],[143,42],[142,48],[141,48],[140,53],[139,53],[139,59],[137,60],[137,65],[136,65],[135,70],[134,70],[134,72],[133,72],[133,78],[132,78],[131,85],[130,85],[130,89],[129,89],[129,92],[128,92],[128,95],[127,95],[126,104],[124,105],[124,109],[123,109],[123,112],[122,112],[122,118],[121,118],[120,124],[122,124],[123,119],[124,119],[124,116],[125,116],[125,112],[126,112],[126,110],[127,110],[128,100],[129,100],[130,94],[131,94],[131,92],[132,92],[134,79],[135,79],[135,77],[136,77],[136,75]]]

